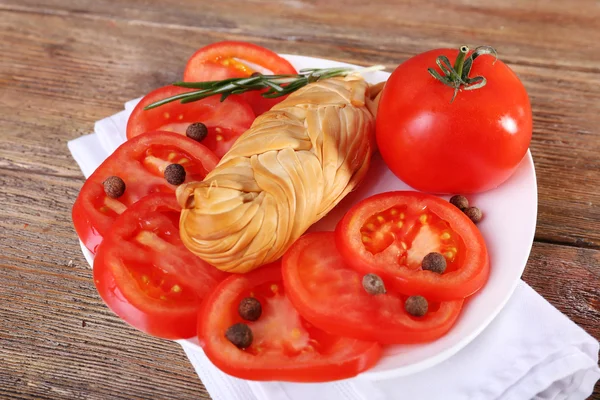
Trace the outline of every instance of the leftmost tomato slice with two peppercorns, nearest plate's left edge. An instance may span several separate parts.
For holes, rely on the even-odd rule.
[[[186,182],[202,180],[219,159],[205,146],[172,132],[152,132],[119,146],[84,183],[73,205],[73,224],[81,241],[92,253],[119,214],[149,193],[174,194],[177,186],[164,178],[164,170],[178,163],[186,170]],[[118,176],[125,193],[111,198],[103,182]]]

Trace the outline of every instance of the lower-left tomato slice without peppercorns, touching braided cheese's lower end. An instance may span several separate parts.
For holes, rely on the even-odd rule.
[[[144,197],[115,220],[94,260],[94,282],[108,307],[166,339],[196,335],[202,300],[228,275],[187,250],[180,212],[172,194]]]

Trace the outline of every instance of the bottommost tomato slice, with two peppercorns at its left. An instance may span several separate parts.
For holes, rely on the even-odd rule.
[[[255,322],[238,314],[238,305],[246,297],[262,305]],[[247,324],[254,336],[244,350],[225,337],[236,323]],[[344,379],[370,368],[381,355],[377,343],[333,336],[307,323],[288,300],[279,264],[223,281],[202,308],[198,334],[213,364],[242,379]]]

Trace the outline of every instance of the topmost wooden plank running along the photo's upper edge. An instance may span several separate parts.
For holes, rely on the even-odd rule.
[[[7,9],[77,18],[111,18],[190,32],[360,48],[388,59],[423,50],[493,44],[511,63],[598,71],[594,0],[5,0]],[[587,49],[588,51],[582,51]],[[302,53],[310,54],[310,53]]]

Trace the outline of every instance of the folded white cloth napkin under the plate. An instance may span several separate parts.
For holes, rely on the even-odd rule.
[[[68,143],[88,177],[126,139],[138,100]],[[585,399],[600,379],[598,341],[520,282],[496,319],[445,362],[413,375],[321,384],[251,382],[230,377],[198,347],[181,341],[214,400]]]

